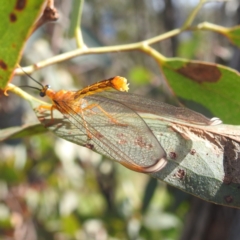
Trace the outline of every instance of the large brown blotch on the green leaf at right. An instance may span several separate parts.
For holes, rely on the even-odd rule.
[[[221,78],[220,70],[210,64],[188,63],[186,66],[177,69],[177,72],[198,83],[213,83]]]

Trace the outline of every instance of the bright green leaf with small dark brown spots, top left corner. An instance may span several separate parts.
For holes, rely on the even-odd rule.
[[[24,44],[45,0],[9,0],[0,4],[0,89],[13,76]]]

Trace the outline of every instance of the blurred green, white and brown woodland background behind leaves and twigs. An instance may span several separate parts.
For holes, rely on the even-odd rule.
[[[55,1],[60,19],[30,37],[22,66],[76,48],[69,37],[74,3]],[[180,27],[196,4],[194,0],[87,0],[83,38],[89,47],[142,41]],[[239,6],[240,1],[208,4],[196,21],[226,27],[239,24]],[[239,51],[211,32],[185,32],[154,47],[168,57],[239,67]],[[115,75],[129,80],[132,93],[174,102],[159,66],[141,52],[80,56],[32,74],[55,90],[80,89]],[[34,85],[26,76],[15,77],[13,83]],[[28,103],[17,96],[0,95],[0,102],[0,128],[37,121]],[[230,239],[221,226],[230,231],[232,216],[239,214],[132,172],[51,133],[0,143],[0,156],[0,239],[4,240]]]

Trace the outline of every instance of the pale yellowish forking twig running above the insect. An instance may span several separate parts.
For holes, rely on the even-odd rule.
[[[84,0],[75,0],[79,2],[79,11],[78,11],[78,17],[79,20],[75,21],[78,23],[78,21],[80,22],[80,16],[82,13],[82,7],[83,7],[83,3]],[[81,1],[81,2],[80,2]],[[224,1],[224,0],[223,0]],[[123,51],[136,51],[136,50],[142,50],[144,52],[146,52],[147,54],[153,56],[154,58],[156,57],[156,53],[155,51],[148,51],[149,49],[144,49],[143,46],[147,46],[147,45],[152,45],[154,43],[157,43],[159,41],[168,39],[170,37],[176,36],[178,34],[180,34],[183,31],[187,31],[187,30],[212,30],[212,31],[216,31],[216,32],[226,32],[226,29],[222,26],[218,26],[215,24],[211,24],[211,23],[207,23],[207,22],[203,22],[198,24],[197,26],[190,26],[194,20],[194,18],[196,17],[197,13],[199,12],[199,10],[201,9],[201,7],[203,6],[203,4],[210,2],[210,0],[200,0],[198,5],[196,6],[196,8],[194,8],[194,10],[192,11],[192,13],[189,15],[189,17],[187,18],[187,20],[185,21],[185,23],[183,24],[183,26],[181,28],[177,28],[174,29],[170,32],[164,33],[164,34],[160,34],[156,37],[153,38],[149,38],[147,40],[143,40],[141,42],[136,42],[136,43],[130,43],[130,44],[124,44],[124,45],[116,45],[116,46],[107,46],[107,47],[93,47],[93,48],[88,48],[84,45],[83,39],[82,39],[82,33],[81,30],[77,27],[78,25],[75,25],[75,37],[76,37],[76,41],[77,41],[77,45],[78,45],[78,49],[75,49],[73,51],[69,51],[67,53],[63,53],[57,56],[54,56],[52,58],[48,58],[46,60],[43,60],[41,62],[38,62],[34,65],[30,65],[27,66],[25,68],[23,68],[23,70],[27,73],[32,73],[35,70],[44,68],[46,66],[55,64],[55,63],[59,63],[59,62],[63,62],[66,61],[68,59],[80,56],[80,55],[86,55],[86,54],[102,54],[102,53],[109,53],[109,52],[123,52]],[[152,55],[153,54],[153,55]],[[158,53],[158,58],[163,59],[163,56]],[[23,75],[23,72],[21,69],[16,69],[15,70],[15,74],[16,75]]]

